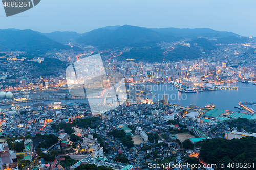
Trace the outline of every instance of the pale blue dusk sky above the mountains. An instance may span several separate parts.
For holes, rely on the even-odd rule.
[[[255,6],[255,0],[41,0],[32,9],[10,17],[0,6],[0,29],[84,33],[127,24],[211,28],[256,36]]]

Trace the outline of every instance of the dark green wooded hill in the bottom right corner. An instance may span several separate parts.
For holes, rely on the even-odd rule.
[[[200,157],[208,164],[217,164],[215,169],[244,169],[228,168],[228,163],[251,163],[256,161],[256,138],[252,136],[241,139],[214,138],[201,144]],[[225,163],[225,168],[218,165]],[[244,167],[244,166],[243,166]],[[254,167],[248,167],[254,169]]]

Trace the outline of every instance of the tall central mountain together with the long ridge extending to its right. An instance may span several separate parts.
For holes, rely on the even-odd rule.
[[[93,45],[100,49],[154,46],[157,42],[172,42],[184,38],[195,39],[197,37],[237,37],[238,34],[227,31],[216,31],[208,28],[177,29],[177,28],[152,28],[138,26],[107,26],[92,30],[86,36],[76,39],[76,42]],[[238,38],[238,37],[237,37]],[[226,38],[234,41],[234,38]],[[242,42],[237,39],[238,42]],[[206,42],[206,41],[205,41]],[[216,41],[217,42],[217,41]],[[200,43],[202,44],[203,43]],[[207,43],[207,50],[214,48]],[[206,45],[204,45],[206,47]]]

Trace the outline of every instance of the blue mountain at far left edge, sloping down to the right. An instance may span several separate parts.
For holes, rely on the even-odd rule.
[[[78,47],[70,47],[56,42],[44,35],[32,30],[1,30],[0,51],[25,51],[28,53],[45,53],[48,50],[73,49],[80,51]]]

